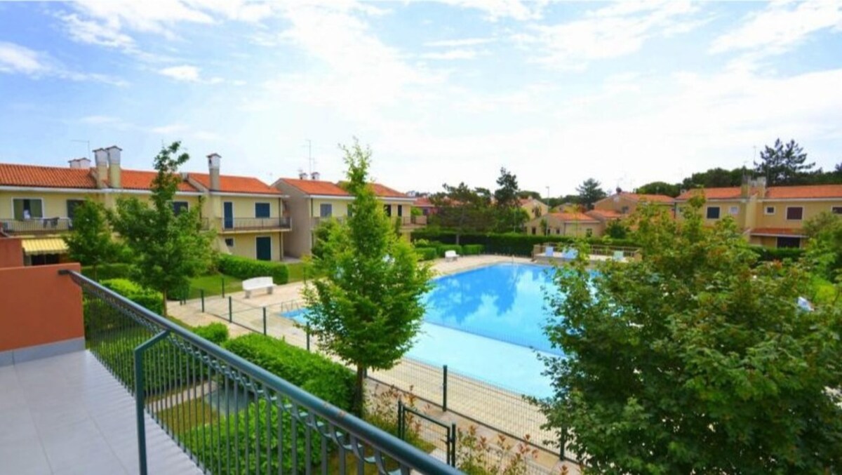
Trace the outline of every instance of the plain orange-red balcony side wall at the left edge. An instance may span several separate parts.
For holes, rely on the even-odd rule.
[[[84,337],[82,290],[60,269],[80,267],[0,269],[0,351]]]

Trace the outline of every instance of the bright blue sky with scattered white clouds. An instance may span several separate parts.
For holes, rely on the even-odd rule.
[[[117,145],[151,168],[574,193],[752,166],[780,137],[842,162],[842,1],[0,2],[0,162]],[[89,144],[89,146],[88,146]],[[309,159],[312,157],[312,162]]]

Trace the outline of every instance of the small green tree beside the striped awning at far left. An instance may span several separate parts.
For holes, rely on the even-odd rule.
[[[67,244],[70,259],[93,268],[97,279],[99,264],[111,262],[118,246],[111,237],[105,207],[92,200],[85,200],[73,210],[73,229],[61,237]]]

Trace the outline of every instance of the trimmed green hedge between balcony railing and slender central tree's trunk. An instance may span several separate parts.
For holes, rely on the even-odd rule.
[[[242,335],[222,346],[338,408],[351,408],[354,373],[322,355],[261,334]]]

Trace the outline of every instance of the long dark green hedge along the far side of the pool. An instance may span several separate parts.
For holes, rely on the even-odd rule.
[[[413,241],[424,239],[438,241],[444,244],[456,244],[456,232],[419,229],[412,234]],[[466,233],[462,234],[459,243],[462,246],[480,244],[488,254],[511,254],[530,257],[536,244],[543,243],[573,243],[574,237],[569,236],[533,236],[516,232],[507,233]],[[587,239],[594,246],[637,247],[637,243],[629,239],[611,239],[607,237],[592,237]]]

